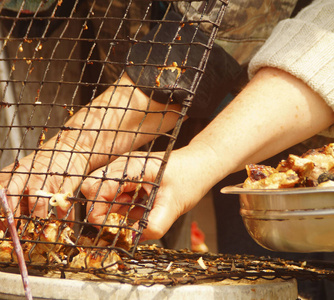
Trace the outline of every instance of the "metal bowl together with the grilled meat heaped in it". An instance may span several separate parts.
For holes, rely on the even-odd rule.
[[[239,194],[240,215],[262,247],[282,252],[334,252],[334,143],[290,154],[276,168],[248,165]]]

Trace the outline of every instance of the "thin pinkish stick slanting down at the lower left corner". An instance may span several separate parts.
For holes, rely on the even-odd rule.
[[[30,290],[30,286],[29,286],[27,266],[26,266],[26,263],[25,263],[25,260],[24,260],[24,257],[23,257],[22,247],[21,247],[21,244],[20,244],[20,240],[19,240],[19,236],[17,234],[16,227],[15,227],[14,216],[13,216],[13,213],[12,213],[12,211],[11,211],[9,205],[8,205],[7,195],[6,195],[6,192],[5,192],[4,188],[0,188],[0,199],[1,199],[2,208],[3,208],[3,210],[5,212],[5,216],[7,218],[8,229],[9,229],[9,232],[12,236],[13,245],[14,245],[14,249],[15,249],[15,252],[16,252],[19,268],[20,268],[20,273],[21,273],[21,277],[22,277],[22,283],[23,283],[23,288],[24,288],[24,292],[25,292],[25,295],[26,295],[26,299],[32,300],[32,294],[31,294],[31,290]]]

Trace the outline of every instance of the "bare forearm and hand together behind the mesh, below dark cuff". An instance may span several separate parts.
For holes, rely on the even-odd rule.
[[[173,128],[179,106],[169,108],[171,112],[166,113],[164,104],[150,101],[124,75],[117,88],[110,87],[79,110],[65,124],[66,130],[18,165],[0,172],[0,184],[8,189],[11,209],[16,216],[32,213],[46,217],[48,201],[34,196],[37,191],[74,193],[85,174],[147,143],[154,134]],[[157,111],[163,112],[163,121]],[[27,197],[20,201],[22,194]],[[58,213],[63,217],[67,212],[58,209]]]

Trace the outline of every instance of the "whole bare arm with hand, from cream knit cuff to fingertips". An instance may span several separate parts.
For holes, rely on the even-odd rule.
[[[332,110],[301,81],[275,69],[263,69],[188,146],[172,151],[142,238],[163,236],[225,176],[311,137],[333,121]],[[135,177],[142,168],[138,159],[132,162],[128,174]],[[125,163],[124,158],[111,163],[108,176],[115,177]],[[148,161],[145,182],[154,181],[159,165],[159,160]],[[95,174],[101,177],[101,170]],[[92,198],[99,184],[89,178],[82,192]],[[135,189],[134,185],[127,187]],[[150,194],[149,185],[143,187]],[[117,190],[118,184],[108,181],[99,197],[110,201]],[[94,213],[101,217],[105,211]]]

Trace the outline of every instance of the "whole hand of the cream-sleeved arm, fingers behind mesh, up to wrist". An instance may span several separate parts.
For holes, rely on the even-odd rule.
[[[142,241],[161,238],[182,214],[191,210],[208,192],[210,180],[205,181],[208,172],[202,169],[202,157],[189,155],[189,151],[189,147],[172,151]],[[129,210],[128,204],[135,203],[133,195],[136,192],[139,192],[139,198],[149,196],[155,186],[163,155],[163,152],[154,152],[147,158],[146,152],[134,152],[131,157],[123,156],[107,168],[90,174],[91,177],[84,181],[81,191],[87,199],[96,198],[101,202],[94,204],[88,220],[101,224],[109,212],[124,215]],[[126,178],[134,180],[127,181],[124,172]],[[119,183],[122,178],[125,179],[123,185]],[[144,208],[134,205],[129,218],[140,220],[143,213]]]

